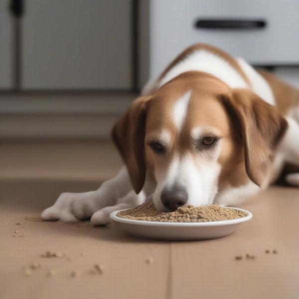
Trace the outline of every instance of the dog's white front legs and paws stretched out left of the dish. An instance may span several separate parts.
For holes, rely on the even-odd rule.
[[[96,191],[60,194],[54,205],[42,212],[41,218],[73,222],[92,217],[93,224],[107,224],[110,212],[138,205],[143,200],[143,192],[136,194],[132,190],[124,166],[116,177],[105,181]]]

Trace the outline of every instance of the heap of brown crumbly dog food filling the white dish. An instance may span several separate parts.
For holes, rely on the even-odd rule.
[[[246,212],[222,208],[216,204],[202,207],[179,207],[173,212],[158,212],[153,201],[147,201],[135,208],[117,213],[121,218],[160,222],[209,222],[237,219],[247,216]]]

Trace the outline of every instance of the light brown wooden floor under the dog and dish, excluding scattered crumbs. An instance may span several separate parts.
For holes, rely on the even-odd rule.
[[[38,219],[59,193],[95,189],[117,171],[121,161],[111,145],[11,143],[1,149],[1,299],[298,298],[299,189],[272,187],[253,198],[243,205],[253,219],[231,236],[149,241],[116,225]],[[268,249],[278,254],[266,254]],[[40,257],[46,251],[65,256]],[[235,260],[246,254],[255,259]],[[26,276],[32,263],[42,267]],[[95,264],[103,274],[91,273]],[[73,271],[78,277],[71,277]]]

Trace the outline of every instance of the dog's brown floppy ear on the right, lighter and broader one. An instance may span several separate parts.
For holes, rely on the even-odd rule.
[[[234,89],[223,100],[243,141],[246,172],[261,186],[288,123],[276,107],[249,90]]]

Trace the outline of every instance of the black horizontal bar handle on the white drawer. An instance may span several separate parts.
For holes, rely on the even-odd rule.
[[[233,29],[233,30],[252,30],[262,29],[267,26],[265,20],[250,19],[198,19],[195,27],[199,29]]]

